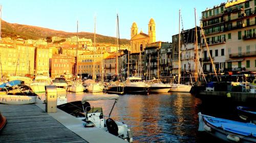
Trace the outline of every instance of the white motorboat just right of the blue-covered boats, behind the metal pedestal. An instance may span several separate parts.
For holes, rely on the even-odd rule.
[[[35,81],[30,84],[30,88],[34,93],[45,92],[45,86],[51,84],[51,78],[49,76],[40,75],[35,77]]]

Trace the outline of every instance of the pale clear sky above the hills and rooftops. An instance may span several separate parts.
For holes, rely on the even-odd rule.
[[[131,39],[131,26],[136,22],[139,32],[148,32],[148,21],[154,18],[156,40],[172,42],[179,33],[179,9],[184,30],[195,27],[194,8],[197,10],[197,25],[201,12],[207,7],[225,0],[1,0],[2,19],[9,23],[27,24],[53,30],[94,32],[116,37],[116,15],[119,15],[120,38]]]

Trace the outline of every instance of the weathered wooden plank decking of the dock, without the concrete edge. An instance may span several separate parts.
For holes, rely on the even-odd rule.
[[[87,142],[35,104],[0,104],[7,118],[0,142]]]

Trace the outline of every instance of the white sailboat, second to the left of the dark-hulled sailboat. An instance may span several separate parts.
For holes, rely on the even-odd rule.
[[[76,31],[76,63],[75,63],[75,82],[69,87],[70,92],[83,92],[84,87],[77,80],[77,49],[78,49],[78,21],[77,21],[77,31]]]

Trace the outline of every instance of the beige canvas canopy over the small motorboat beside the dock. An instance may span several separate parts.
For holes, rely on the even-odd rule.
[[[103,94],[103,95],[87,95],[82,98],[82,104],[86,101],[97,101],[97,100],[118,100],[119,96],[116,94]]]

